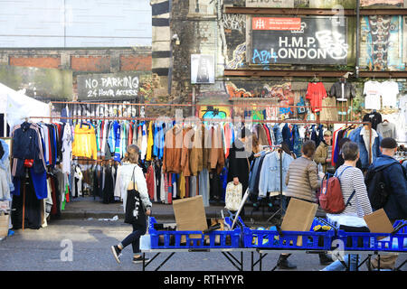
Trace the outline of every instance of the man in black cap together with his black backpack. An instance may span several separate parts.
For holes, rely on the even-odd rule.
[[[392,223],[397,219],[407,219],[407,177],[402,164],[393,158],[397,152],[397,142],[383,138],[380,143],[382,155],[369,167],[365,182],[374,210],[383,210]],[[381,269],[393,269],[396,254],[381,255]],[[373,258],[369,269],[377,268],[377,259]]]

